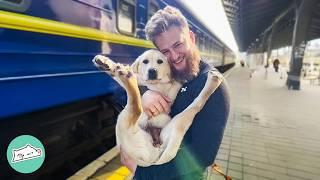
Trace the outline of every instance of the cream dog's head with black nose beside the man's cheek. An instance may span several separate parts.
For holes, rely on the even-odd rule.
[[[168,83],[171,81],[171,70],[167,58],[158,50],[151,49],[140,55],[132,64],[142,85]]]

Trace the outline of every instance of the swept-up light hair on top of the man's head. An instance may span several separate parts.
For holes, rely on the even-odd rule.
[[[159,34],[168,31],[172,26],[189,29],[188,22],[182,13],[177,8],[166,6],[158,10],[148,21],[145,27],[147,39],[154,43]]]

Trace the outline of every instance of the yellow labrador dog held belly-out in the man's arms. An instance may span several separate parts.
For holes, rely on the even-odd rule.
[[[99,69],[111,75],[127,92],[127,105],[119,114],[116,125],[117,145],[139,166],[163,164],[176,156],[195,115],[222,81],[219,72],[210,71],[199,96],[183,112],[172,119],[165,113],[149,118],[142,109],[138,82],[172,100],[181,88],[181,84],[171,78],[166,57],[157,50],[148,50],[139,56],[131,67],[115,63],[101,55],[95,56],[93,62]],[[162,129],[161,143],[158,146],[147,132],[149,126]]]

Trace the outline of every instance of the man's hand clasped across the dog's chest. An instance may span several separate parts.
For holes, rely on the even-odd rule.
[[[142,108],[149,117],[160,113],[169,114],[171,105],[172,101],[169,97],[156,91],[148,90],[142,96]]]

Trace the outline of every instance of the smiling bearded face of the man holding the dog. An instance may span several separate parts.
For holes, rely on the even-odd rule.
[[[155,44],[168,59],[173,75],[189,80],[198,70],[200,56],[195,46],[193,32],[172,26],[155,38]],[[197,66],[197,67],[194,67]],[[195,70],[196,69],[196,70]]]

